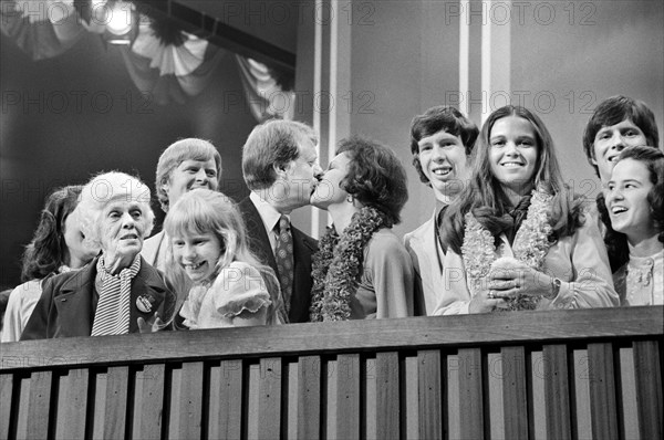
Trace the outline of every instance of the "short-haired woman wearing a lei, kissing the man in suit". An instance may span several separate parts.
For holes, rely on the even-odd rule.
[[[413,315],[413,265],[392,226],[408,198],[406,172],[388,148],[341,142],[311,203],[333,227],[313,256],[311,321]]]

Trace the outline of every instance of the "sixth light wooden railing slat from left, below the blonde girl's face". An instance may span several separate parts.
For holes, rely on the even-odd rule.
[[[181,439],[199,439],[203,436],[203,363],[183,364],[178,423]]]

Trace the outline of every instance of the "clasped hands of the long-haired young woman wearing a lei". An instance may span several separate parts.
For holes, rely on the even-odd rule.
[[[494,270],[487,280],[488,291],[496,297],[544,295],[553,286],[551,276],[526,265]]]

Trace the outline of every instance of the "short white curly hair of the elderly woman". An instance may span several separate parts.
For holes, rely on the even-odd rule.
[[[138,202],[143,211],[143,238],[149,237],[155,221],[155,213],[149,206],[149,188],[134,176],[111,171],[93,177],[81,191],[81,201],[75,213],[85,240],[91,244],[101,245],[100,218],[106,205],[114,200]]]

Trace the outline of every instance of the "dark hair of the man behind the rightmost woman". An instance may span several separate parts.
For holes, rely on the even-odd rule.
[[[592,163],[594,157],[594,138],[602,127],[620,124],[630,119],[645,136],[649,145],[657,148],[660,146],[660,132],[655,124],[655,115],[643,101],[632,99],[627,96],[611,96],[600,103],[588,121],[583,130],[583,151],[589,164],[600,177],[600,169]]]

